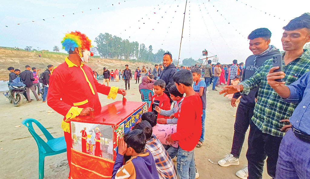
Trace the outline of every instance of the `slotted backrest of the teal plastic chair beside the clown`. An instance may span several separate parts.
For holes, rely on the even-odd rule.
[[[40,146],[42,146],[47,153],[54,152],[51,149],[51,147],[34,131],[32,123],[35,123],[38,126],[38,128],[42,131],[42,133],[46,137],[47,141],[51,139],[55,139],[55,138],[48,132],[47,129],[45,129],[44,126],[42,126],[42,124],[39,121],[35,119],[31,119],[31,118],[25,119],[24,121],[22,121],[22,124],[28,127],[30,134],[33,136],[34,140],[36,141],[38,145],[38,150],[40,151],[41,149]]]

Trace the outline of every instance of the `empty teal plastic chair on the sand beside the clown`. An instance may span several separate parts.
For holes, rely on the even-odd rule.
[[[45,142],[33,129],[33,123],[35,123],[39,129],[43,132],[47,139]],[[38,145],[39,151],[39,179],[44,177],[44,158],[45,156],[53,156],[67,151],[66,142],[64,137],[54,138],[42,124],[35,119],[25,119],[22,124],[28,127],[30,134]]]

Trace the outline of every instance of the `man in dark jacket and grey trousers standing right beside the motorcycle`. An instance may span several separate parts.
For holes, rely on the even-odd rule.
[[[22,82],[26,85],[26,93],[27,93],[27,99],[28,102],[31,102],[30,99],[30,90],[32,91],[34,97],[37,99],[37,101],[41,101],[36,93],[36,90],[34,88],[33,85],[33,73],[30,71],[30,66],[26,65],[25,66],[26,70],[20,73],[20,79],[22,80]]]

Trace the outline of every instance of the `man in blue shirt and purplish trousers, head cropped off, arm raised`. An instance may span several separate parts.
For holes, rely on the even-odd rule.
[[[283,71],[273,72],[277,68],[270,69],[268,84],[283,100],[300,103],[290,120],[281,120],[288,124],[281,129],[287,132],[279,148],[276,178],[310,178],[310,71],[286,86],[285,82],[275,81],[285,75]]]

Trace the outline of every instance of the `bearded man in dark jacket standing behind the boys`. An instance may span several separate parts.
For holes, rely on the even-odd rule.
[[[169,52],[164,53],[164,56],[162,57],[162,64],[164,65],[164,69],[160,73],[160,79],[162,79],[166,82],[166,87],[165,87],[164,93],[166,93],[166,95],[169,97],[170,104],[171,104],[173,102],[173,100],[171,100],[171,98],[170,98],[170,94],[169,94],[168,89],[170,89],[170,87],[172,85],[174,85],[173,75],[177,71],[175,68],[175,65],[172,63],[171,53],[169,53]]]

